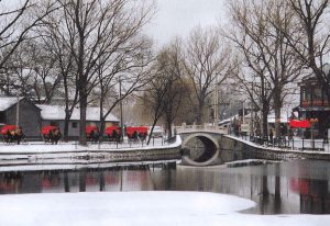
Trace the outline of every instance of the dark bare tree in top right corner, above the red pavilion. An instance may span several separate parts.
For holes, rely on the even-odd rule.
[[[324,57],[330,50],[329,0],[288,0],[297,19],[296,26],[302,32],[302,36],[290,35],[282,31],[288,39],[288,44],[299,56],[302,64],[307,65],[323,86],[324,93],[330,103],[330,75],[326,71]],[[328,29],[327,29],[328,27]]]

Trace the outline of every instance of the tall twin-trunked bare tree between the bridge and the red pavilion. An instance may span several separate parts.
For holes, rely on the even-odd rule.
[[[286,97],[286,87],[301,75],[304,66],[293,52],[287,34],[298,35],[294,26],[293,12],[286,0],[283,1],[235,1],[231,3],[231,13],[237,31],[229,37],[239,46],[244,56],[245,66],[258,77],[258,81],[241,77],[241,84],[249,95],[260,97],[254,105],[263,112],[263,134],[267,134],[267,114],[273,100],[275,109],[275,132],[280,136],[280,109]],[[276,26],[274,25],[276,24]],[[248,82],[246,82],[248,81]],[[254,84],[252,87],[252,83]],[[256,89],[255,89],[256,88]],[[255,93],[257,90],[261,94]]]

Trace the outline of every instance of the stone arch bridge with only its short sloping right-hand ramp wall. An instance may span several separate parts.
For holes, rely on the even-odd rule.
[[[182,137],[183,165],[212,166],[250,158],[278,159],[263,148],[227,136],[227,129],[213,125],[175,127]],[[265,156],[263,156],[265,154]]]

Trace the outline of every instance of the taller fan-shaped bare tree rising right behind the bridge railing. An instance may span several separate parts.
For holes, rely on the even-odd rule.
[[[202,123],[206,100],[230,75],[230,48],[215,29],[196,27],[186,47],[185,68],[198,100],[197,123]],[[213,88],[213,89],[212,89]]]

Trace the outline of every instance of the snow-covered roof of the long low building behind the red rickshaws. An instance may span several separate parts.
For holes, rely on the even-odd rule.
[[[36,104],[40,108],[43,120],[64,120],[65,118],[65,106],[61,105],[45,105]],[[75,108],[70,120],[80,120],[80,110]],[[87,121],[100,121],[100,108],[87,108],[86,112]],[[109,114],[106,118],[107,122],[119,122],[118,117],[113,114]]]

